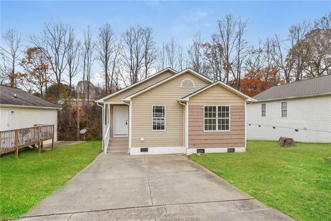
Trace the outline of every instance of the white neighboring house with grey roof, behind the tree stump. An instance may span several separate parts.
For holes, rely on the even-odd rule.
[[[247,104],[248,140],[331,142],[331,75],[274,86]]]

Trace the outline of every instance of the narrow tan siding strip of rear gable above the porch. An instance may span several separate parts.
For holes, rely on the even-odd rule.
[[[167,77],[170,77],[174,75],[171,72],[165,72],[161,73],[160,75],[157,75],[155,77],[152,77],[151,79],[134,86],[132,88],[129,88],[128,90],[123,91],[122,93],[118,93],[117,95],[114,95],[114,97],[110,97],[109,99],[106,99],[105,102],[115,102],[115,103],[122,103],[122,98],[127,97],[128,95],[132,95],[133,93],[136,93],[139,90],[142,90],[143,88],[146,88],[152,84],[155,84]]]

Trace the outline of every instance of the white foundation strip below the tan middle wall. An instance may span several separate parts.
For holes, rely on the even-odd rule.
[[[140,148],[148,148],[148,152],[140,152]],[[130,155],[157,155],[157,154],[178,154],[186,153],[186,148],[183,146],[154,146],[154,147],[131,147]]]

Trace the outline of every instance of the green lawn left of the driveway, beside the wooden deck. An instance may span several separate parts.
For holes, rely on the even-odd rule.
[[[1,156],[0,220],[17,218],[66,184],[101,153],[101,142],[84,142],[55,148],[29,150]]]

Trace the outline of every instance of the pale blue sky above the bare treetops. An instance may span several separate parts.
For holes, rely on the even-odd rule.
[[[217,20],[231,13],[248,19],[246,37],[257,44],[259,38],[287,35],[292,24],[330,11],[331,1],[1,1],[1,34],[8,28],[39,34],[43,23],[53,20],[70,23],[77,35],[90,26],[94,37],[108,22],[120,37],[139,23],[153,28],[159,46],[174,37],[185,48],[198,30],[209,40]]]

